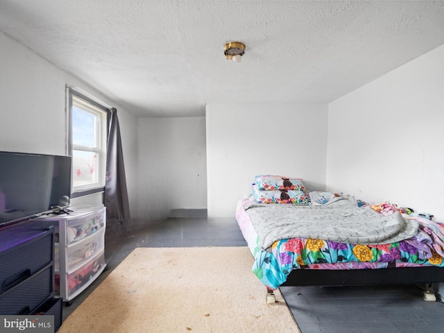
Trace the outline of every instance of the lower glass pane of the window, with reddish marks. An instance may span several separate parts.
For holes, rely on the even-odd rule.
[[[97,153],[73,150],[73,186],[92,185],[99,182]]]

